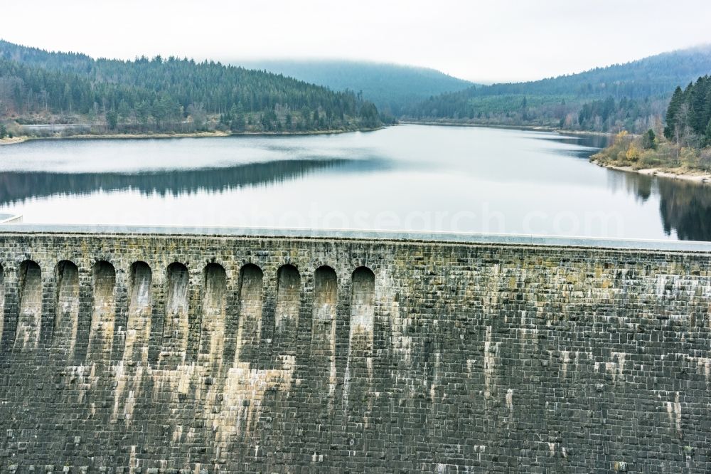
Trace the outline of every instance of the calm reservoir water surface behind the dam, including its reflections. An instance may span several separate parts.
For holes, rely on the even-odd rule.
[[[26,223],[278,226],[711,240],[711,186],[603,169],[599,137],[401,125],[309,137],[0,147]]]

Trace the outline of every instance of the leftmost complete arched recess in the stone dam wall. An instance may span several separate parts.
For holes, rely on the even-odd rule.
[[[42,270],[33,260],[18,268],[19,300],[14,349],[37,349],[42,327]]]

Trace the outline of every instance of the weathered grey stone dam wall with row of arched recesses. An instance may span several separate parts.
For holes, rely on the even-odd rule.
[[[0,233],[3,473],[706,473],[711,256]]]

